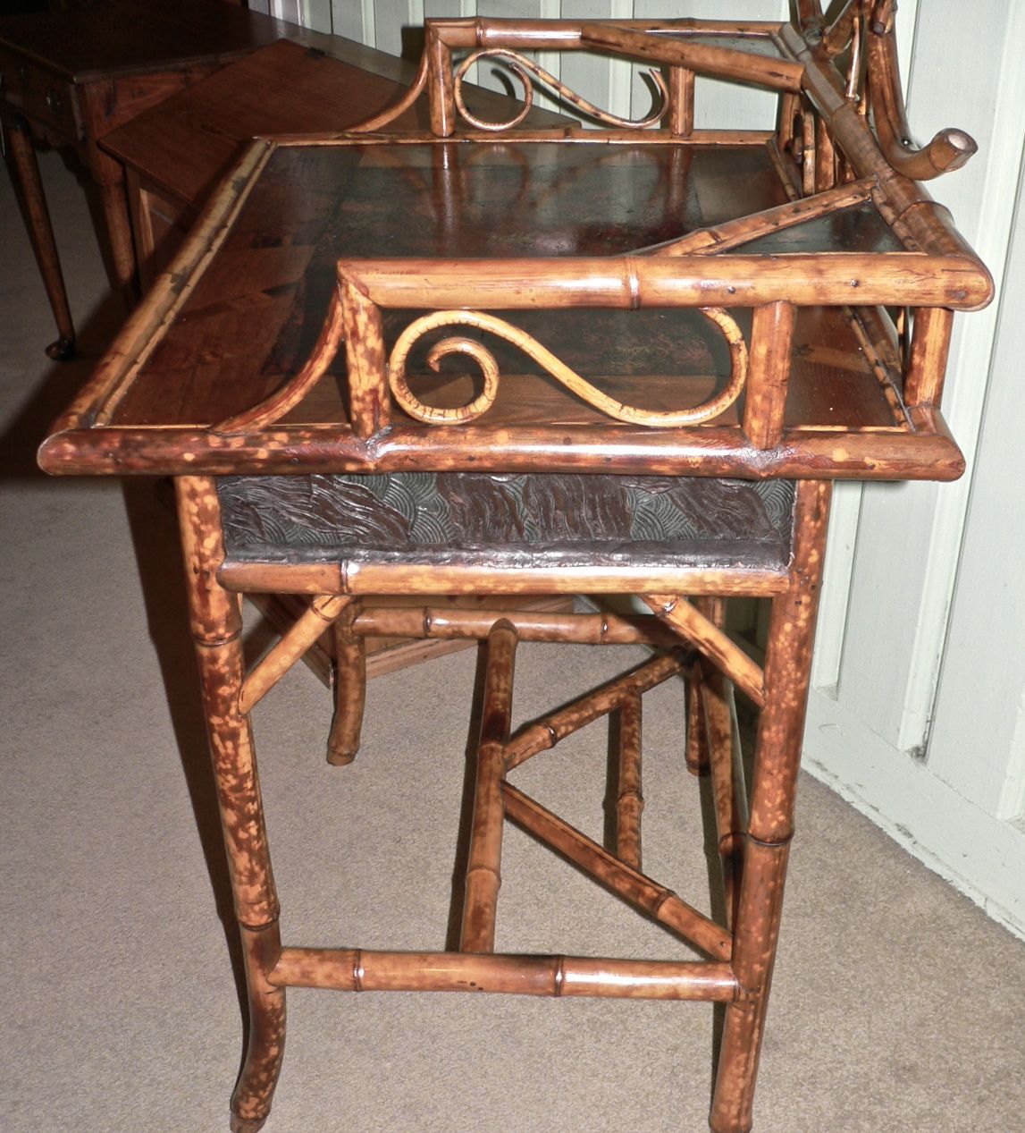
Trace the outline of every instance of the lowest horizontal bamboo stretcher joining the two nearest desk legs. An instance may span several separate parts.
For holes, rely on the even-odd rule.
[[[719,1003],[736,998],[736,980],[726,963],[587,956],[283,948],[271,980],[280,987],[336,991],[501,991]]]

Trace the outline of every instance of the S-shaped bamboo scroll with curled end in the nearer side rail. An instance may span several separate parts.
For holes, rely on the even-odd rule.
[[[495,361],[494,355],[480,342],[462,335],[452,335],[436,343],[427,356],[428,365],[435,370],[439,368],[441,361],[446,355],[464,353],[473,358],[480,366],[484,389],[469,404],[456,408],[437,408],[425,404],[410,389],[405,374],[405,361],[410,349],[428,331],[439,326],[473,326],[512,342],[578,398],[615,420],[652,428],[697,425],[717,417],[724,409],[733,404],[740,397],[748,377],[748,347],[744,343],[741,329],[719,307],[701,307],[700,310],[706,318],[719,327],[726,338],[729,346],[731,374],[729,381],[719,393],[691,409],[658,412],[624,404],[591,385],[587,378],[581,377],[524,331],[502,318],[477,310],[439,310],[424,315],[410,323],[399,335],[392,350],[388,363],[388,382],[395,400],[416,420],[428,425],[452,425],[480,417],[494,404],[498,394],[499,381],[498,364]]]

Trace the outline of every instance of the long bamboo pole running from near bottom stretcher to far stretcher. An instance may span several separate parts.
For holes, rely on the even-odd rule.
[[[502,885],[502,826],[505,819],[502,804],[504,744],[512,723],[516,642],[516,631],[506,621],[496,622],[488,634],[460,952],[492,952],[495,947],[495,911]]]

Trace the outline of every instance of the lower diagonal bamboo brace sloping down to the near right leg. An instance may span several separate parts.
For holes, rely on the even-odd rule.
[[[725,960],[729,956],[733,944],[731,934],[672,889],[621,861],[511,783],[502,784],[502,794],[505,812],[512,821],[564,854],[596,881],[712,959]]]

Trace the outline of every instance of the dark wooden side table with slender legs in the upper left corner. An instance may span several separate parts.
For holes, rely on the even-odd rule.
[[[99,186],[113,276],[135,272],[122,167],[100,148],[111,130],[204,75],[283,35],[313,33],[221,0],[110,0],[102,8],[0,17],[0,121],[28,235],[57,320],[53,358],[75,330],[35,146],[70,146]],[[313,36],[316,39],[316,36]]]

